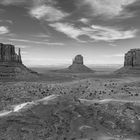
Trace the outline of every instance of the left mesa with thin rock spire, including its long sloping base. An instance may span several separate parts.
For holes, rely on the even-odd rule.
[[[0,43],[0,80],[27,77],[37,77],[37,73],[24,66],[20,48],[17,54],[14,45]]]

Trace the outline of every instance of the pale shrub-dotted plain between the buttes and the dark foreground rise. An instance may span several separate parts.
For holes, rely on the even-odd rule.
[[[0,83],[0,110],[7,106],[33,101],[57,94],[73,99],[133,99],[138,100],[139,79],[91,78],[73,82],[9,82]]]

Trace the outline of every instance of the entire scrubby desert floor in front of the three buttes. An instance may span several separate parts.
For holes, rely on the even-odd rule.
[[[139,140],[140,76],[1,82],[0,110],[0,140]]]

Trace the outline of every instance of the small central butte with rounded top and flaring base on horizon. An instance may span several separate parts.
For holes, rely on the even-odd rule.
[[[92,73],[94,72],[90,68],[84,65],[84,58],[82,55],[77,55],[73,59],[72,65],[63,70],[57,72],[68,72],[68,73]]]

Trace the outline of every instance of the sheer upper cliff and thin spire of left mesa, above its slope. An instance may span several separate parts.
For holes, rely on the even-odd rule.
[[[19,54],[16,54],[15,46],[0,43],[0,62],[22,63],[20,49]]]

